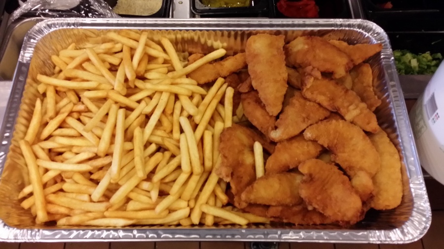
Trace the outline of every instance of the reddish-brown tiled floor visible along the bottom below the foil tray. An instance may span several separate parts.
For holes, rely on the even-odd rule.
[[[410,110],[416,99],[406,99]],[[439,249],[444,248],[444,211],[432,212],[432,226],[419,241],[404,245],[279,243],[279,249]],[[0,243],[0,249],[249,249],[244,242]]]

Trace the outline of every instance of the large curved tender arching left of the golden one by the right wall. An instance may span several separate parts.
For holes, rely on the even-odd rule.
[[[371,178],[380,168],[379,155],[370,139],[361,128],[347,121],[321,121],[306,128],[304,137],[329,149],[333,161],[352,178],[359,171],[368,173]]]

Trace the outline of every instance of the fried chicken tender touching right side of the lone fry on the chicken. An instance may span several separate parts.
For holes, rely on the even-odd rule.
[[[321,151],[321,145],[306,140],[302,134],[279,142],[265,163],[265,174],[271,175],[296,168],[301,162],[319,156]]]

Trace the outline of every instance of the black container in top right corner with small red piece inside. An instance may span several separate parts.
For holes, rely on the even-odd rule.
[[[385,31],[444,30],[443,0],[392,0],[391,9],[376,5],[386,1],[362,0],[367,19]]]

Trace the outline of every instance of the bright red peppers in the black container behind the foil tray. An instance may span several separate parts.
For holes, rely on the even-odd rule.
[[[278,10],[286,17],[316,18],[319,17],[319,8],[314,0],[289,1],[279,0]]]

